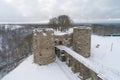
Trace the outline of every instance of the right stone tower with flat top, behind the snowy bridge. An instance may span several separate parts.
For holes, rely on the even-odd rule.
[[[90,56],[91,28],[74,28],[73,50],[84,57]]]

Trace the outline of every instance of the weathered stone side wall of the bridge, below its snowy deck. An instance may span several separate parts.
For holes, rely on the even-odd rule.
[[[79,73],[80,80],[87,80],[91,78],[91,80],[102,80],[98,75],[92,71],[91,69],[87,68],[85,65],[74,59],[71,55],[69,55],[66,51],[60,50],[58,48],[55,49],[56,55],[58,58],[65,62],[74,73]]]

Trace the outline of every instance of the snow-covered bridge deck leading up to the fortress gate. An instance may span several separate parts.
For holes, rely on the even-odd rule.
[[[59,58],[63,56],[65,57],[66,54],[70,55],[72,58],[77,60],[79,64],[82,63],[89,70],[92,70],[102,80],[120,80],[119,72],[114,71],[101,64],[94,63],[89,58],[84,58],[83,56],[79,55],[78,53],[76,53],[75,51],[66,46],[62,45],[56,46],[55,50]]]

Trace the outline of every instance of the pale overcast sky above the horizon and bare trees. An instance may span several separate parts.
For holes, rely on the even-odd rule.
[[[120,20],[120,0],[0,0],[0,22],[47,22],[63,14],[74,22]]]

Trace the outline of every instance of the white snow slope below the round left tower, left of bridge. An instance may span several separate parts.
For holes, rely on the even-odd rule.
[[[2,80],[78,80],[77,76],[58,59],[49,65],[33,63],[33,56],[28,57]]]

